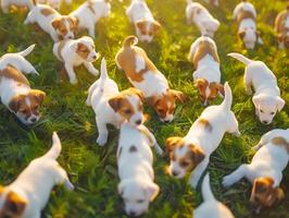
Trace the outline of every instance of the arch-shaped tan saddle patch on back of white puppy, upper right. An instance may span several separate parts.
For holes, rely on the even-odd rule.
[[[217,55],[217,51],[213,44],[211,44],[208,40],[202,40],[199,43],[199,46],[197,48],[197,51],[193,56],[193,68],[198,69],[198,63],[200,60],[202,60],[206,55],[211,55],[213,59],[219,63],[219,58]]]

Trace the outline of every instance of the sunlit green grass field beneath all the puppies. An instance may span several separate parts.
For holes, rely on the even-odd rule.
[[[68,13],[81,2],[83,0],[76,0],[71,8],[63,7],[61,12]],[[262,134],[275,128],[289,126],[289,59],[286,51],[277,49],[273,28],[274,19],[286,8],[286,1],[252,0],[259,13],[257,25],[265,44],[254,51],[243,49],[236,35],[236,24],[231,21],[231,11],[239,1],[221,2],[221,8],[206,7],[222,23],[215,40],[222,61],[223,81],[228,81],[233,88],[233,110],[240,123],[242,135],[236,140],[226,134],[219,148],[212,156],[209,167],[212,190],[218,199],[229,206],[237,218],[288,218],[289,170],[285,171],[281,183],[287,193],[286,199],[273,209],[264,210],[260,216],[254,216],[250,211],[251,185],[247,181],[243,180],[228,190],[221,185],[225,174],[240,164],[251,160],[253,154],[250,147],[257,143]],[[134,28],[125,16],[128,3],[128,0],[112,1],[112,14],[98,24],[95,40],[97,49],[108,61],[110,76],[117,82],[121,89],[129,87],[129,83],[116,69],[114,57],[123,39],[134,34]],[[185,135],[204,109],[192,83],[192,65],[187,61],[190,45],[199,36],[199,31],[193,25],[186,25],[185,0],[148,0],[148,4],[163,28],[154,43],[140,46],[168,78],[171,86],[190,96],[189,102],[177,108],[175,121],[171,124],[161,123],[152,109],[146,108],[151,114],[147,125],[163,146],[168,136]],[[93,111],[85,106],[87,89],[96,77],[84,68],[79,68],[79,84],[71,85],[67,77],[61,73],[62,64],[52,55],[52,40],[37,28],[23,25],[25,15],[26,13],[0,15],[0,55],[20,51],[37,44],[28,60],[40,72],[40,76],[29,76],[29,81],[33,87],[45,90],[47,98],[42,107],[42,119],[29,129],[18,123],[3,106],[0,106],[0,183],[11,183],[32,159],[49,149],[52,131],[58,131],[63,144],[60,162],[67,170],[76,190],[68,193],[63,187],[54,189],[42,217],[126,217],[116,189],[118,178],[115,154],[118,132],[110,128],[108,145],[99,147],[96,144]],[[278,77],[287,106],[271,125],[264,126],[255,118],[251,97],[244,94],[244,66],[226,56],[231,51],[264,61]],[[95,65],[99,68],[100,60]],[[221,101],[222,99],[217,99],[214,104]],[[161,193],[144,217],[191,217],[193,208],[202,202],[200,187],[192,190],[187,180],[176,180],[165,174],[164,168],[167,162],[165,157],[154,159],[155,180],[161,186]]]

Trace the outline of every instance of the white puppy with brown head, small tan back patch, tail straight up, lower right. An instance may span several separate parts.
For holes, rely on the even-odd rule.
[[[166,140],[171,159],[167,172],[171,175],[181,179],[191,172],[189,182],[196,187],[209,165],[211,154],[218,147],[224,134],[228,132],[240,135],[238,121],[230,110],[231,101],[231,89],[225,83],[225,99],[219,106],[204,109],[185,137]]]

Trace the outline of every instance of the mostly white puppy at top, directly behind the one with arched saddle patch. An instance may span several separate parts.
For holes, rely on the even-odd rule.
[[[215,32],[219,26],[219,22],[214,19],[210,12],[200,3],[187,0],[186,8],[187,23],[193,23],[198,26],[202,35],[214,37]]]

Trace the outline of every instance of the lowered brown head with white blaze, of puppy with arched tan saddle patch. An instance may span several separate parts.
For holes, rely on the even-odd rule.
[[[225,96],[224,86],[219,83],[210,83],[205,78],[198,78],[196,86],[199,89],[200,97],[206,106],[209,101],[213,101],[221,93]]]

